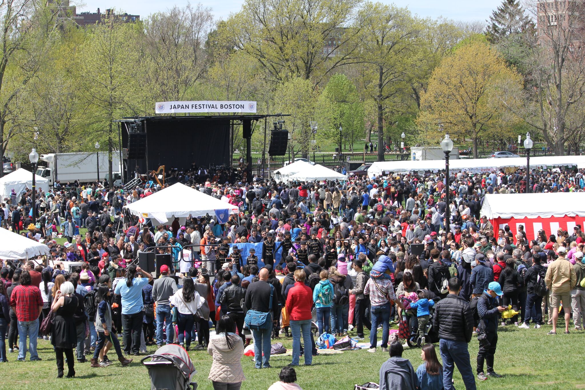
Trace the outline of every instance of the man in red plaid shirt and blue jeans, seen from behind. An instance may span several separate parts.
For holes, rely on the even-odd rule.
[[[20,275],[20,285],[12,290],[10,305],[14,307],[18,320],[18,360],[24,361],[26,358],[26,336],[29,337],[30,361],[42,360],[36,347],[43,298],[39,287],[31,285],[29,271],[24,271]]]

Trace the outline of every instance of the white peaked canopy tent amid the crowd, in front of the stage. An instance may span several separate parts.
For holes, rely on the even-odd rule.
[[[126,209],[132,215],[155,219],[159,223],[167,223],[173,218],[179,218],[180,222],[184,223],[190,215],[199,217],[209,213],[214,216],[216,210],[219,212],[219,210],[228,209],[229,214],[239,212],[238,206],[220,201],[181,183],[173,184],[171,187],[130,203]]]

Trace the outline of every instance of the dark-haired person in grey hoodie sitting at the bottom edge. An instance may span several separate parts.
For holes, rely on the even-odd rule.
[[[404,348],[398,341],[390,344],[390,358],[380,367],[380,390],[415,390],[419,386],[417,375],[408,359],[402,358]]]

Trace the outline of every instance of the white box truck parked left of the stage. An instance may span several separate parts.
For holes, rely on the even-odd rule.
[[[47,166],[37,167],[36,174],[48,178],[51,185],[56,181],[61,184],[75,180],[81,183],[95,182],[98,180],[98,170],[100,181],[109,179],[107,151],[41,154],[39,160],[45,161]],[[118,151],[112,153],[112,171],[115,185],[122,185]]]

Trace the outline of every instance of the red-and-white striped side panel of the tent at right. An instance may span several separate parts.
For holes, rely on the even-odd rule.
[[[504,226],[510,226],[510,232],[514,234],[514,243],[516,243],[516,234],[518,234],[518,226],[524,226],[526,232],[526,239],[538,239],[539,230],[545,231],[546,237],[550,234],[557,236],[558,229],[566,230],[569,235],[573,234],[573,228],[581,225],[581,229],[585,226],[585,216],[564,216],[564,217],[550,217],[550,218],[494,218],[490,220],[494,227],[494,234],[497,237],[499,229],[504,229]]]

